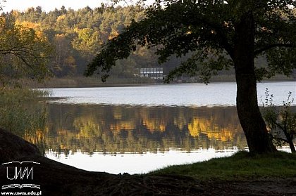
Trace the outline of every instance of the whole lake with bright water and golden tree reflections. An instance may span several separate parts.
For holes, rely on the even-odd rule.
[[[296,82],[258,84],[281,105]],[[247,149],[235,83],[49,89],[46,156],[80,169],[140,174]]]

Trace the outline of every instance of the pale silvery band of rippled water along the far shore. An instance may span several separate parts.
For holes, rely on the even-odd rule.
[[[281,105],[292,91],[295,96],[296,81],[263,82],[257,84],[258,100],[265,98],[265,90]],[[166,84],[153,86],[126,86],[103,88],[51,89],[52,96],[64,97],[58,103],[146,105],[146,106],[235,106],[236,84]]]

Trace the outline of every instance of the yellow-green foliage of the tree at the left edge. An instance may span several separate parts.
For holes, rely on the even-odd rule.
[[[47,77],[47,61],[51,44],[42,32],[16,25],[10,18],[0,17],[0,79],[16,79],[28,75],[35,79]]]

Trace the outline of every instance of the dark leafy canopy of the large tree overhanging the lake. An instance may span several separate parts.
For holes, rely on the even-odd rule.
[[[268,60],[267,67],[257,69],[257,79],[276,73],[289,75],[296,62],[294,6],[292,0],[158,0],[147,9],[146,18],[133,21],[105,44],[85,75],[98,70],[105,81],[116,60],[128,58],[137,45],[159,45],[159,63],[171,55],[192,52],[166,81],[183,73],[199,73],[208,81],[211,74],[234,65],[236,27],[246,14],[252,15],[255,23],[254,58],[264,55]]]

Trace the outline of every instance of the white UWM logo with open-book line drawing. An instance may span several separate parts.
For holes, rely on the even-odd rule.
[[[6,166],[6,178],[10,181],[16,180],[33,180],[33,166],[21,166],[23,163],[27,164],[40,164],[37,162],[7,162],[2,165]],[[13,164],[13,166],[8,166],[8,164]],[[20,164],[20,166],[14,166],[16,164]],[[2,189],[7,188],[38,188],[40,189],[39,185],[35,184],[10,184],[10,185],[3,185]]]

